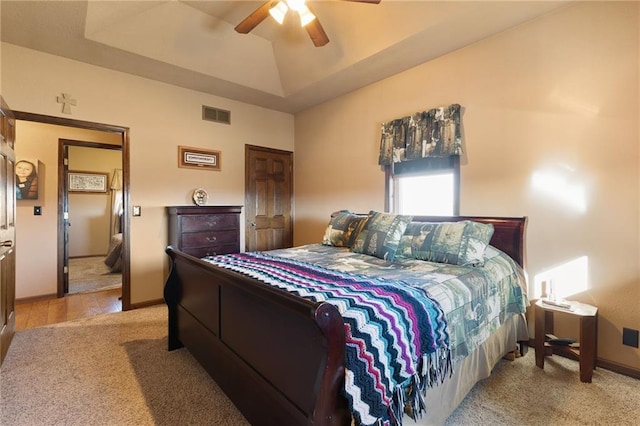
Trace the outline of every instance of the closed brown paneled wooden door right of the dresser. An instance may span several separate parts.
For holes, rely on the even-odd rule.
[[[293,245],[293,153],[245,148],[245,250]]]

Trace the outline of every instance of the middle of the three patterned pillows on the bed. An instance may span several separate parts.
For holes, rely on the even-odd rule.
[[[393,260],[412,216],[371,211],[362,230],[358,233],[351,251]]]

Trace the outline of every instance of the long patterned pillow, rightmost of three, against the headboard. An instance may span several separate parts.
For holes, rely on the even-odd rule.
[[[400,239],[397,256],[460,266],[484,264],[493,225],[461,222],[411,222]]]

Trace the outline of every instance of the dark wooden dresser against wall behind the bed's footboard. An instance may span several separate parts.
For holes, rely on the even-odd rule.
[[[174,206],[169,213],[169,245],[201,258],[240,252],[242,206]]]

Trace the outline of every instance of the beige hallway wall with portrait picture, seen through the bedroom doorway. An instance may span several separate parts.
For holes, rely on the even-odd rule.
[[[58,139],[118,144],[118,135],[18,121],[16,157],[38,159],[38,199],[18,200],[16,297],[56,294],[58,261]],[[33,207],[42,215],[34,216]]]

